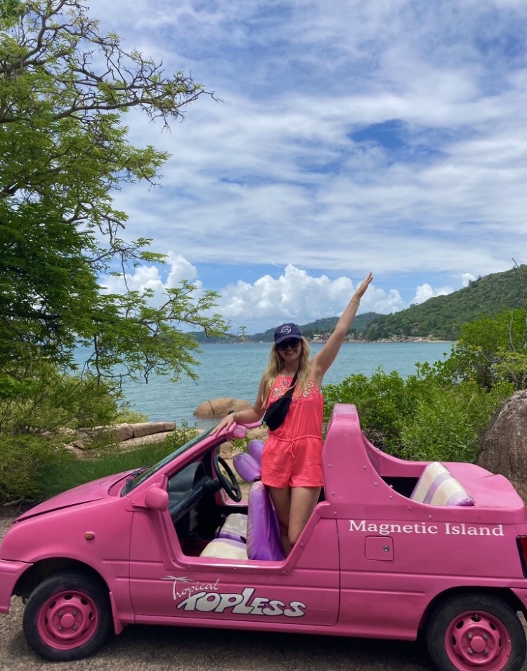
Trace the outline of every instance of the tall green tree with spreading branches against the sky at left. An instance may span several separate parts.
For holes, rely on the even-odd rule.
[[[192,373],[194,338],[183,326],[225,331],[217,295],[183,281],[152,307],[148,293],[108,295],[108,274],[164,257],[150,240],[126,243],[126,213],[112,193],[156,185],[169,154],[134,147],[124,114],[163,127],[212,95],[182,72],[101,32],[80,0],[0,4],[0,394],[11,397],[41,359],[72,366],[79,343],[98,378]],[[20,387],[22,385],[22,387]]]

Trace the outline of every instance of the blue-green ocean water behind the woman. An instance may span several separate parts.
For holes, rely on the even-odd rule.
[[[344,343],[337,359],[327,371],[323,384],[339,384],[353,373],[371,376],[377,368],[385,373],[397,371],[403,378],[415,373],[417,362],[433,364],[448,358],[453,343]],[[311,354],[322,345],[311,345]],[[204,401],[232,397],[253,403],[264,368],[269,343],[203,345],[196,357],[199,379],[181,378],[171,383],[157,376],[148,384],[125,383],[129,406],[148,416],[150,421],[197,424],[208,428],[209,420],[196,418],[194,411]]]

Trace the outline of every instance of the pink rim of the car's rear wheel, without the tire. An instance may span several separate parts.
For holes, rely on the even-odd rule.
[[[512,644],[500,620],[489,613],[467,611],[450,623],[445,650],[460,671],[500,671],[509,660]]]

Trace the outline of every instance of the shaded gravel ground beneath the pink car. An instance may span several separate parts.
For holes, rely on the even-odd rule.
[[[0,508],[0,541],[17,514]],[[13,597],[0,615],[0,671],[432,671],[421,642],[143,625],[89,658],[46,662],[25,642],[22,611]]]

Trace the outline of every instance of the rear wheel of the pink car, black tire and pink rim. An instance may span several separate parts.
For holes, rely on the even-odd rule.
[[[426,635],[438,671],[519,671],[526,657],[518,616],[491,594],[445,599],[431,613]]]

